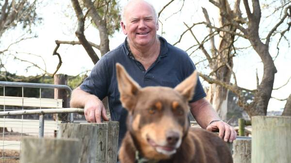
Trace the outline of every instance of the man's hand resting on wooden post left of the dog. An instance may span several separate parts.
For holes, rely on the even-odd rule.
[[[84,114],[87,122],[101,122],[101,117],[104,121],[109,121],[106,116],[106,109],[99,99],[89,99],[87,100],[84,107]]]

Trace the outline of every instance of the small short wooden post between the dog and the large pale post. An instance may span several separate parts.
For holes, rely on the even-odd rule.
[[[251,163],[251,139],[233,141],[233,163]]]

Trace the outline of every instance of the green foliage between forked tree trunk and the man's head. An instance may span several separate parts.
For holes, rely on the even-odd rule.
[[[121,8],[117,0],[95,0],[94,5],[98,14],[106,21],[108,35],[112,36],[116,30],[119,31]]]

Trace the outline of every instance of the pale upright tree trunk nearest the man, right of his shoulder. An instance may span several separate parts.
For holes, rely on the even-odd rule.
[[[225,15],[225,13],[232,15],[228,1],[218,0],[217,2],[221,5],[219,18],[220,27],[227,31],[236,31],[236,27],[227,25],[229,24],[228,20],[221,16]],[[216,57],[216,59],[212,60],[210,63],[210,68],[215,74],[214,78],[229,84],[233,68],[231,51],[233,50],[232,44],[234,41],[234,35],[221,31],[220,36],[221,37],[217,48],[218,53],[216,54],[212,52],[212,58]],[[222,120],[227,120],[227,94],[228,90],[225,87],[218,84],[211,84],[207,95],[207,99],[210,101]]]

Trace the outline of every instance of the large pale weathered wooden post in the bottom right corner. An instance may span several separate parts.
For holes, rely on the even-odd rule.
[[[252,163],[291,163],[291,117],[252,117]]]

